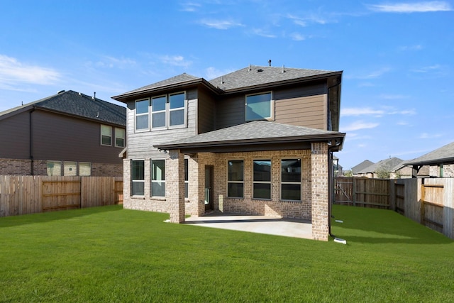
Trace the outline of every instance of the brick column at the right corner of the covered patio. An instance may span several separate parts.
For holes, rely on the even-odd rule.
[[[312,192],[312,238],[328,241],[329,211],[328,211],[328,145],[312,143],[311,154],[311,192]]]

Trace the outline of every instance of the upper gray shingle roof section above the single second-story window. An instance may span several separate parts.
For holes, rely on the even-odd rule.
[[[284,70],[284,72],[282,72]],[[223,91],[231,91],[245,87],[255,87],[262,84],[287,82],[292,79],[301,79],[319,75],[331,74],[327,70],[306,70],[288,67],[264,67],[251,65],[236,72],[217,77],[209,81],[214,87]]]

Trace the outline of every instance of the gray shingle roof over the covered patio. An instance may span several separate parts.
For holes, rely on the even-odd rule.
[[[345,133],[337,131],[323,131],[304,126],[292,126],[288,124],[275,123],[270,121],[252,121],[237,126],[222,128],[208,133],[201,133],[196,136],[172,141],[157,148],[180,148],[191,145],[214,145],[223,143],[238,142],[275,142],[295,140],[313,140],[324,138],[343,138]]]

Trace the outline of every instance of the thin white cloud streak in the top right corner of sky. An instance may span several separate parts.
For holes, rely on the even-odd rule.
[[[427,13],[432,11],[452,11],[450,4],[445,1],[374,4],[370,5],[369,9],[383,13]]]

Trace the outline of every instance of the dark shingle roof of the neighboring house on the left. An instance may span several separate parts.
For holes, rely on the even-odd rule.
[[[72,90],[2,111],[0,117],[13,113],[14,111],[20,111],[28,107],[31,108],[31,106],[79,116],[85,119],[116,124],[118,126],[126,126],[126,107],[98,98],[93,99],[86,94],[77,93]]]

